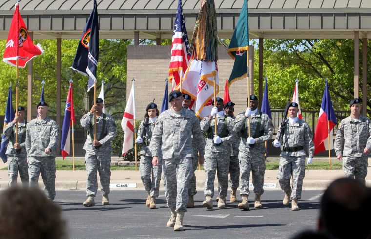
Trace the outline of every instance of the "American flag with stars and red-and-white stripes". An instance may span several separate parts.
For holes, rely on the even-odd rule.
[[[182,0],[179,0],[178,10],[175,16],[173,40],[171,43],[171,60],[169,67],[169,81],[172,82],[172,90],[179,89],[181,78],[186,72],[190,55],[186,21],[184,20]]]

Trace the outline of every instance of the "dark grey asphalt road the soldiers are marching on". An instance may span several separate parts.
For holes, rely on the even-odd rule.
[[[84,191],[57,191],[55,202],[62,207],[70,238],[290,238],[301,230],[316,228],[322,193],[303,190],[299,201],[302,210],[291,211],[290,206],[282,205],[281,191],[266,190],[263,208],[242,211],[237,203],[217,209],[215,202],[214,208],[207,210],[202,207],[204,197],[199,191],[195,208],[185,214],[183,232],[166,227],[170,210],[163,191],[157,199],[158,209],[147,208],[146,193],[138,190],[111,191],[108,206],[101,206],[101,195],[95,198],[95,207],[82,206]],[[253,193],[250,198],[254,199]]]

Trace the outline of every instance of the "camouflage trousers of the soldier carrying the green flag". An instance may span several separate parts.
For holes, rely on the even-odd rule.
[[[240,195],[249,195],[250,172],[252,172],[252,185],[254,186],[255,194],[263,194],[264,189],[264,173],[266,171],[266,157],[261,153],[240,151],[238,154],[240,160],[241,181]]]

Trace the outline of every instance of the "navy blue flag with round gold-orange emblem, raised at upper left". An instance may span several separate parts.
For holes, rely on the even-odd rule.
[[[87,91],[94,87],[94,82],[97,82],[98,58],[99,23],[97,0],[94,0],[93,10],[87,20],[71,67],[73,70],[89,76]]]

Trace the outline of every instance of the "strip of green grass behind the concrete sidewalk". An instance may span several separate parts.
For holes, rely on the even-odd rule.
[[[57,170],[72,170],[72,161],[70,160],[55,160]],[[276,170],[279,167],[278,162],[267,162],[267,170]],[[138,166],[139,169],[139,166]],[[328,162],[313,162],[312,164],[307,164],[306,169],[329,169]],[[331,164],[331,169],[342,169],[341,162],[334,162]],[[7,170],[7,168],[2,168],[1,170]],[[84,161],[75,161],[75,170],[85,170]],[[111,170],[135,170],[135,166],[111,166]],[[204,167],[201,166],[201,170],[204,170]]]

